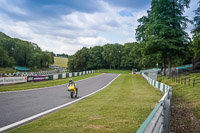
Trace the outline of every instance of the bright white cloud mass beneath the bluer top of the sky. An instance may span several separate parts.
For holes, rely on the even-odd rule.
[[[135,41],[137,19],[146,15],[146,9],[131,11],[133,16],[120,16],[119,12],[125,8],[111,7],[103,1],[100,3],[104,7],[103,12],[89,14],[76,11],[62,15],[60,19],[16,21],[0,13],[0,31],[11,37],[37,43],[42,50],[70,55],[82,47]],[[7,7],[12,6],[6,4]],[[19,8],[18,13],[20,11],[23,13]]]

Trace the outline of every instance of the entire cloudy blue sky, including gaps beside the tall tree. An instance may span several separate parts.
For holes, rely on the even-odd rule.
[[[185,15],[193,19],[198,0]],[[134,42],[151,0],[0,0],[0,32],[72,55],[82,47]],[[187,32],[193,29],[188,24]]]

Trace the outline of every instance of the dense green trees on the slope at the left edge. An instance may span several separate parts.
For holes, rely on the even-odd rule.
[[[43,52],[37,44],[11,38],[0,32],[0,67],[48,67],[53,63],[53,56],[53,52]]]

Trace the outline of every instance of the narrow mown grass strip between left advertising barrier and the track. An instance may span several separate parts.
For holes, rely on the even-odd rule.
[[[78,80],[82,80],[82,79],[85,79],[85,78],[97,76],[97,75],[100,75],[100,74],[101,73],[92,73],[92,74],[88,74],[88,75],[72,77],[72,79],[74,81],[78,81]],[[0,92],[28,90],[28,89],[49,87],[49,86],[65,84],[65,83],[68,83],[68,81],[69,81],[69,78],[65,78],[65,79],[49,80],[49,81],[42,81],[42,82],[28,82],[28,83],[23,83],[23,84],[1,85],[0,86]]]

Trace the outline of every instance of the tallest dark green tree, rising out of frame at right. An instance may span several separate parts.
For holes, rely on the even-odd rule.
[[[149,56],[147,61],[173,64],[183,63],[182,59],[188,52],[190,38],[184,31],[187,22],[183,16],[184,8],[188,8],[189,0],[152,0],[147,16],[138,20],[136,29],[137,40],[142,47],[142,54]],[[185,56],[186,57],[186,56]],[[160,59],[160,60],[158,60]]]

